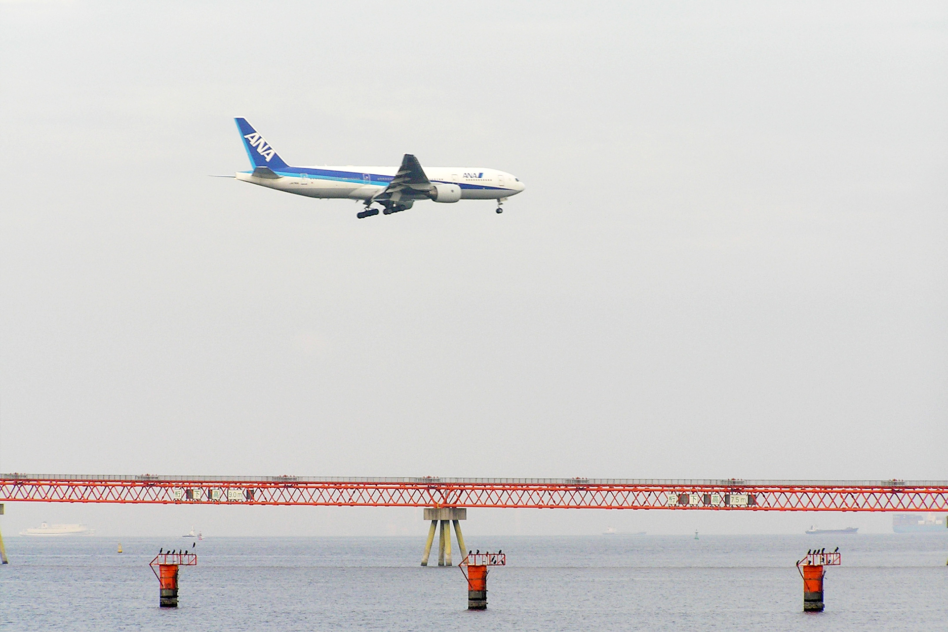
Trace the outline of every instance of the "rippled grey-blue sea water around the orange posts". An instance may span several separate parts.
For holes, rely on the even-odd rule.
[[[176,540],[176,541],[175,541]],[[0,627],[20,630],[944,630],[948,536],[477,536],[502,549],[488,609],[424,537],[208,538],[158,607],[148,567],[191,540],[9,537]],[[839,546],[826,611],[804,614],[794,563]],[[436,562],[432,553],[432,563]],[[454,562],[460,561],[454,551]]]

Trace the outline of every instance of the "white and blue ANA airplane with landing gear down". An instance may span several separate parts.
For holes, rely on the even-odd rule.
[[[523,190],[520,178],[483,167],[428,167],[406,153],[400,167],[290,167],[264,136],[246,122],[234,118],[252,171],[234,177],[250,184],[318,198],[360,200],[363,219],[408,210],[418,200],[454,203],[459,200],[497,200],[497,212],[512,195]]]

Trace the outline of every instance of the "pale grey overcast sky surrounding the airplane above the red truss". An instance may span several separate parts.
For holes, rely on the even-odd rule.
[[[946,44],[940,2],[0,2],[0,471],[948,479]],[[357,220],[208,177],[233,117],[526,191]]]

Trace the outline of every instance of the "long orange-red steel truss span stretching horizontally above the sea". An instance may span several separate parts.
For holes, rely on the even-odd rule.
[[[948,480],[439,479],[0,474],[0,502],[777,512],[948,510]]]

